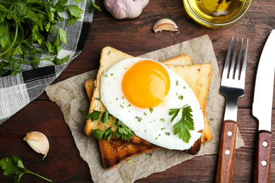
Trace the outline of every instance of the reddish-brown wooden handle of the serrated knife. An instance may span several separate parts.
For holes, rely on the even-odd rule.
[[[271,132],[259,130],[256,143],[254,182],[270,182]]]

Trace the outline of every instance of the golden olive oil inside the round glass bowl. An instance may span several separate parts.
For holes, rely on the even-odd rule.
[[[245,0],[190,0],[193,11],[205,20],[219,23],[230,20],[243,8]]]

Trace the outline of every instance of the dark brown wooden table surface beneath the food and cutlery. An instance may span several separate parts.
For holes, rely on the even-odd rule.
[[[60,82],[99,66],[104,46],[113,46],[133,56],[178,44],[208,34],[212,40],[219,71],[224,66],[231,37],[249,39],[245,96],[238,102],[238,127],[245,146],[236,149],[233,182],[252,182],[255,156],[257,120],[252,116],[252,98],[255,75],[260,54],[271,30],[275,28],[275,1],[252,1],[247,13],[230,27],[209,29],[195,23],[185,11],[182,0],[149,1],[142,14],[135,19],[116,20],[108,13],[102,1],[97,1],[102,12],[95,11],[85,47],[61,75]],[[161,18],[171,18],[181,30],[174,32],[152,31],[152,25]],[[275,110],[273,109],[275,120]],[[27,132],[44,132],[50,141],[50,151],[44,160],[23,141]],[[272,123],[275,134],[275,122]],[[275,135],[272,138],[275,141]],[[73,136],[64,122],[63,113],[44,92],[38,99],[13,115],[0,126],[0,158],[20,156],[25,168],[52,179],[53,182],[92,182],[87,163],[80,158]],[[214,182],[217,155],[195,157],[164,172],[154,173],[136,182]],[[0,170],[0,182],[12,182]],[[44,182],[33,175],[23,175],[20,182]],[[272,145],[271,182],[275,182],[275,144]]]

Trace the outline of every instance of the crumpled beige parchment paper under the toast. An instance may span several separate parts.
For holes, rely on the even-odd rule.
[[[139,57],[151,58],[156,61],[163,61],[167,58],[187,53],[193,59],[193,63],[212,63],[213,75],[210,84],[207,101],[207,118],[214,119],[210,122],[210,128],[214,139],[202,144],[200,153],[197,156],[218,153],[219,139],[221,133],[221,122],[224,115],[224,96],[219,94],[220,75],[216,62],[216,56],[212,42],[207,35],[191,39],[173,46],[157,51],[146,53]],[[154,172],[161,172],[184,160],[194,156],[178,151],[167,151],[160,149],[152,151],[152,156],[142,154],[132,158],[132,163],[121,163],[116,168],[105,170],[101,165],[101,154],[97,139],[87,137],[84,133],[85,115],[90,106],[89,99],[85,92],[84,83],[86,80],[96,77],[97,70],[76,75],[68,80],[47,87],[46,92],[51,101],[55,101],[63,111],[65,122],[71,129],[75,144],[80,151],[80,156],[88,163],[94,182],[134,182],[142,177],[147,177]],[[236,148],[244,145],[242,137],[238,132]]]

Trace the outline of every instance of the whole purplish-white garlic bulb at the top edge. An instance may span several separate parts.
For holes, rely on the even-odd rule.
[[[149,0],[104,0],[104,6],[114,18],[136,18]]]

